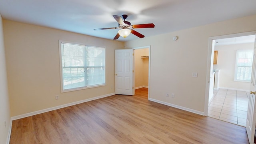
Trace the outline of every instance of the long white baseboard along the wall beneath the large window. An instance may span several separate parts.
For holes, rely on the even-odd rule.
[[[63,104],[63,105],[60,105],[60,106],[54,106],[52,108],[46,108],[44,110],[38,110],[38,111],[35,111],[35,112],[30,112],[30,113],[27,113],[27,114],[21,114],[19,116],[13,116],[11,117],[11,121],[12,120],[18,120],[20,118],[26,118],[28,116],[34,116],[36,114],[42,114],[44,112],[50,112],[52,110],[58,110],[60,108],[65,108],[65,107],[68,107],[68,106],[73,106],[73,105],[76,105],[76,104],[81,104],[81,103],[84,103],[84,102],[89,102],[91,100],[96,100],[96,99],[100,99],[100,98],[104,98],[104,97],[107,97],[107,96],[112,96],[112,95],[115,95],[115,93],[111,93],[111,94],[105,94],[103,96],[96,96],[94,98],[88,98],[86,100],[80,100],[80,101],[77,101],[77,102],[72,102],[72,103],[69,103],[69,104]]]

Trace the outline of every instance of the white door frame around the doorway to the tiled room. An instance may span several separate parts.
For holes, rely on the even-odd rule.
[[[212,72],[213,67],[213,54],[212,54],[212,40],[217,39],[223,39],[223,38],[233,38],[233,37],[239,37],[239,36],[248,36],[248,35],[254,35],[256,31],[252,32],[242,32],[237,34],[228,34],[223,36],[213,36],[209,38],[208,42],[208,56],[207,56],[207,67],[206,67],[206,88],[205,88],[205,99],[204,99],[204,116],[208,115],[208,101],[209,101],[209,88],[210,88],[210,73]]]

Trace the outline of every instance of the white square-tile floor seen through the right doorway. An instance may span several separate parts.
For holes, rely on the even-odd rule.
[[[208,105],[208,116],[246,126],[249,95],[249,92],[238,90],[214,90],[214,98]]]

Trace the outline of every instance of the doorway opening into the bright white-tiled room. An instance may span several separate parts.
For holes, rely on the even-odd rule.
[[[253,51],[254,34],[249,32],[210,38],[212,54],[207,116],[246,126],[250,80],[237,79],[240,73],[237,73],[236,62],[239,50]],[[217,63],[213,64],[216,53]]]

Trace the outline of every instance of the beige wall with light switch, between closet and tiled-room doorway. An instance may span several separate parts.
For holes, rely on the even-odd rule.
[[[151,46],[150,98],[204,112],[209,37],[256,30],[256,15],[126,42],[127,48]],[[172,37],[178,36],[173,41]],[[192,77],[197,72],[198,77]],[[175,98],[166,97],[166,93]]]

